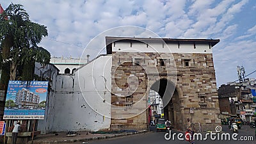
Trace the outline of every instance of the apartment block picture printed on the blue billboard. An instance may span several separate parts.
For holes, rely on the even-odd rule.
[[[36,95],[28,89],[22,88],[16,93],[15,104],[19,109],[34,109],[38,108],[39,100],[40,95]]]

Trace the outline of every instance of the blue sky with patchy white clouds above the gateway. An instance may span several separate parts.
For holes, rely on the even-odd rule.
[[[162,38],[220,39],[212,50],[217,87],[238,79],[237,65],[243,65],[246,75],[256,70],[255,0],[0,2],[4,10],[10,3],[24,5],[31,21],[47,26],[48,36],[38,45],[51,56],[90,54],[92,59],[102,49],[87,47],[95,36],[116,27],[136,26]],[[135,34],[120,31],[106,36],[129,35]],[[248,78],[256,78],[256,72]]]

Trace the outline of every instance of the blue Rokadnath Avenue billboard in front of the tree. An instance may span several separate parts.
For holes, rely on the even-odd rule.
[[[48,81],[9,81],[4,119],[44,119]]]

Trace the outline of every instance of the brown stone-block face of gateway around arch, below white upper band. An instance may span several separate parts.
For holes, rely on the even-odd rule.
[[[173,120],[180,129],[186,118],[205,131],[220,125],[212,54],[113,52],[111,76],[111,129],[147,129],[148,91],[163,77],[178,90]]]

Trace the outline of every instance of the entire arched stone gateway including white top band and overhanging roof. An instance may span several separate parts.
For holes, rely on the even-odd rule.
[[[148,128],[148,92],[161,95],[175,128],[220,124],[212,47],[220,40],[106,37],[111,67],[111,129]]]

